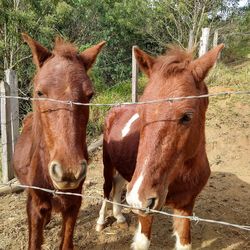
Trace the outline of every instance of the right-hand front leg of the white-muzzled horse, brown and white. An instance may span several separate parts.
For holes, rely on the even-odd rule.
[[[193,204],[182,209],[174,209],[175,215],[191,216]],[[190,220],[174,217],[174,235],[176,237],[176,250],[191,250]]]

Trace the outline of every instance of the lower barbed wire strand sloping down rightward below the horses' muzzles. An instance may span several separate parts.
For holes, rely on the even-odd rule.
[[[47,192],[47,193],[50,193],[52,195],[72,195],[72,196],[78,196],[78,197],[82,197],[82,198],[97,199],[97,200],[100,200],[100,201],[105,200],[106,202],[108,202],[110,204],[119,205],[119,206],[122,206],[124,208],[131,209],[131,210],[140,210],[140,211],[143,211],[143,212],[145,212],[147,214],[152,214],[152,213],[153,214],[160,214],[160,215],[164,215],[164,216],[168,216],[168,217],[189,219],[191,221],[195,221],[196,223],[198,223],[198,222],[207,222],[207,223],[220,224],[220,225],[224,225],[224,226],[235,227],[235,228],[238,228],[238,229],[241,229],[241,230],[250,231],[250,225],[239,225],[239,224],[229,223],[229,222],[225,222],[225,221],[218,221],[218,220],[200,218],[200,217],[196,216],[194,213],[193,213],[192,216],[185,216],[185,215],[171,214],[171,213],[168,213],[168,212],[165,212],[165,211],[159,211],[159,210],[150,209],[150,208],[141,209],[141,208],[137,208],[137,207],[127,205],[127,204],[114,202],[114,201],[105,199],[105,198],[100,197],[100,196],[98,197],[98,196],[83,195],[83,194],[72,193],[72,192],[62,192],[62,191],[58,191],[58,190],[41,188],[41,187],[31,186],[31,185],[17,184],[17,183],[13,183],[13,182],[0,183],[0,186],[9,186],[10,188],[12,188],[12,186],[20,187],[20,188],[30,188],[30,189],[35,189],[35,190],[40,190],[40,191],[43,191],[43,192]]]

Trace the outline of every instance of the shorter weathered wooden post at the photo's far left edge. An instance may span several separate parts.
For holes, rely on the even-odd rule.
[[[10,95],[10,86],[1,81],[0,83],[1,96]],[[10,99],[1,98],[1,138],[2,138],[2,181],[8,182],[14,177],[13,169],[11,168],[12,156],[12,129],[11,129],[11,107]]]

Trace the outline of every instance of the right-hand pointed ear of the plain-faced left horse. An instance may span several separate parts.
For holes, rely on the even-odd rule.
[[[97,55],[99,54],[99,52],[101,51],[102,47],[105,45],[105,41],[102,41],[88,49],[85,49],[82,53],[81,53],[81,57],[83,59],[84,65],[86,70],[88,71],[92,65],[94,64]]]

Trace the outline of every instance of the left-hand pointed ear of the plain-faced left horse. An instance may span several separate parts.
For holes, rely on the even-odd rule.
[[[52,55],[52,53],[37,41],[33,40],[29,35],[22,33],[22,37],[31,49],[33,62],[37,69],[41,68],[43,63]]]

